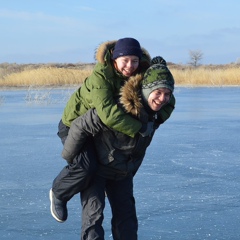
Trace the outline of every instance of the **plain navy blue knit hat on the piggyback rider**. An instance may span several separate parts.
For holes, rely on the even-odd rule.
[[[142,49],[139,42],[134,38],[119,39],[113,50],[113,59],[127,55],[134,55],[139,58],[142,57]]]

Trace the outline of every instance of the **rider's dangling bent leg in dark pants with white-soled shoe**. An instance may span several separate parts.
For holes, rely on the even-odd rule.
[[[68,216],[67,201],[88,186],[96,169],[97,156],[94,144],[91,139],[88,139],[73,163],[63,168],[53,181],[49,193],[50,210],[58,222],[66,221]]]

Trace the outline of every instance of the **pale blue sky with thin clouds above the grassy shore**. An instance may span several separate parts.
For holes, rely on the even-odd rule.
[[[152,57],[186,64],[240,58],[239,0],[8,0],[0,8],[0,63],[94,62],[97,46],[134,37]]]

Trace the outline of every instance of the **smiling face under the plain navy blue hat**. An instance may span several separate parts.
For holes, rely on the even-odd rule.
[[[123,56],[115,60],[117,69],[124,76],[130,77],[139,66],[139,58],[137,56]]]

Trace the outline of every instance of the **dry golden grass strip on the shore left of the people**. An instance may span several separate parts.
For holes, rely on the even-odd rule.
[[[92,65],[19,65],[1,68],[0,86],[62,86],[81,84],[92,72]]]

